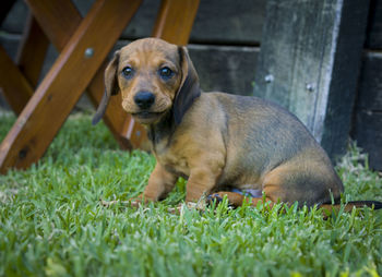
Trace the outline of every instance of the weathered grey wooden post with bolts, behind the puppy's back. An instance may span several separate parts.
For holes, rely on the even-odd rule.
[[[368,7],[267,1],[254,94],[294,112],[332,157],[346,149]]]

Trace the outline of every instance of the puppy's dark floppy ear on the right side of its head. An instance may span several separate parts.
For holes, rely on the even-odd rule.
[[[198,73],[191,62],[187,48],[179,46],[178,52],[182,80],[175,96],[172,107],[176,125],[181,122],[186,111],[191,107],[194,99],[201,95]]]

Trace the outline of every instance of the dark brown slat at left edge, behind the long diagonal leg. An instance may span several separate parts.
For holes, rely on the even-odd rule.
[[[19,115],[33,95],[33,88],[2,46],[0,64],[0,87],[12,110]]]

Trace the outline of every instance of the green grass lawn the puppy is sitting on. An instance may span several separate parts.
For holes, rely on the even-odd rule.
[[[0,140],[13,123],[0,118]],[[37,166],[0,176],[1,276],[379,276],[382,213],[357,209],[324,220],[307,208],[226,203],[205,213],[104,207],[144,188],[155,165],[121,152],[103,124],[72,116]],[[382,201],[382,178],[355,146],[337,166],[345,200]],[[285,213],[278,213],[282,208]]]

